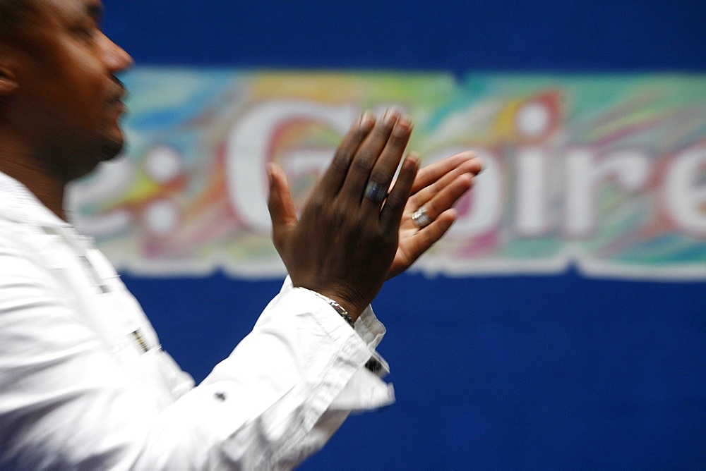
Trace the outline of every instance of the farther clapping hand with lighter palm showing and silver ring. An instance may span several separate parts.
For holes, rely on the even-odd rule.
[[[448,231],[457,218],[453,204],[472,187],[481,169],[481,160],[473,152],[461,152],[419,171],[402,213],[400,245],[388,279],[408,269]],[[419,228],[412,221],[412,214],[422,206],[433,222]]]

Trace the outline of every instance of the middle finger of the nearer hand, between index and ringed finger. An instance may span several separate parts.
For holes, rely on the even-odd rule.
[[[390,134],[399,117],[400,111],[394,108],[388,109],[388,111],[385,111],[383,118],[376,123],[373,130],[367,135],[350,164],[345,183],[343,183],[343,188],[341,189],[343,195],[351,198],[351,200],[357,198],[360,201],[360,197],[363,195],[370,178],[370,172],[390,139]]]

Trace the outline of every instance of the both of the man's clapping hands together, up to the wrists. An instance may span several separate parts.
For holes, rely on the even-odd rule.
[[[409,117],[398,111],[388,110],[377,123],[364,115],[338,147],[299,220],[284,173],[274,164],[268,168],[273,240],[292,283],[337,301],[353,319],[386,279],[405,271],[448,231],[457,217],[453,204],[481,171],[472,152],[419,173],[416,157],[407,157],[384,204],[364,197],[369,180],[390,185],[411,132]],[[412,213],[422,205],[434,221],[420,229]]]

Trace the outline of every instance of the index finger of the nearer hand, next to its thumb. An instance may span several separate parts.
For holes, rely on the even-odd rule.
[[[333,161],[316,185],[316,191],[323,192],[328,197],[336,195],[345,181],[354,155],[373,126],[375,126],[375,116],[371,111],[365,111],[336,149]]]

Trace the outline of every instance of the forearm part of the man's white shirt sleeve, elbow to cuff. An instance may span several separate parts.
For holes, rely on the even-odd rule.
[[[193,467],[293,467],[321,448],[351,410],[393,401],[391,386],[364,367],[371,355],[326,302],[286,290],[201,385],[164,411],[148,441],[165,453],[145,448],[136,463],[169,467],[210,450]],[[189,427],[179,429],[185,417]],[[184,442],[191,446],[173,446]]]

